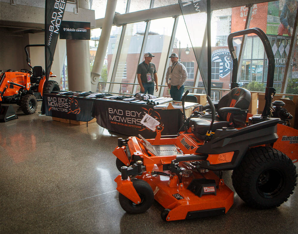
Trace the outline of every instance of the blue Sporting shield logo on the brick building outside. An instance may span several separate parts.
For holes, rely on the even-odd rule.
[[[221,49],[214,51],[212,54],[212,62],[219,62],[219,64],[215,64],[215,73],[218,73],[216,72],[216,68],[219,68],[219,76],[221,78],[230,73],[232,58],[229,50]]]

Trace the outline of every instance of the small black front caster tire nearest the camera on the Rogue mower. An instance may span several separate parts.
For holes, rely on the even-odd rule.
[[[123,210],[129,214],[140,214],[146,212],[154,202],[154,194],[150,185],[145,180],[134,179],[132,184],[141,198],[141,202],[136,204],[127,197],[119,193],[119,203]]]

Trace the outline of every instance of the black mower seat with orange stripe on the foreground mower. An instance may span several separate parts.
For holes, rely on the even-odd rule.
[[[224,95],[218,102],[218,116],[215,117],[211,131],[214,132],[216,129],[221,129],[222,127],[244,127],[250,101],[251,94],[244,88],[234,88]],[[204,139],[211,120],[211,114],[191,118],[189,123],[192,133],[199,139]]]

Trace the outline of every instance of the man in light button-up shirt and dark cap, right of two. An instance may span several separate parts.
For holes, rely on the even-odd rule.
[[[187,71],[184,65],[178,61],[176,53],[171,54],[169,58],[171,58],[172,65],[168,67],[166,74],[167,86],[170,89],[171,98],[175,101],[181,101]]]

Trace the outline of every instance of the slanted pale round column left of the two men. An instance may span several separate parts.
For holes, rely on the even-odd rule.
[[[111,34],[111,28],[113,25],[115,9],[117,0],[109,0],[105,10],[105,18],[103,21],[103,27],[98,43],[98,48],[94,58],[94,63],[91,72],[91,91],[95,92],[99,78],[101,76],[101,70],[103,69],[103,62],[105,59],[105,52],[107,51],[108,41]],[[89,76],[90,77],[90,76]]]

